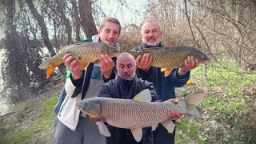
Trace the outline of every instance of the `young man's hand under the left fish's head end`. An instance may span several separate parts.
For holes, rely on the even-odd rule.
[[[110,78],[112,70],[115,66],[114,61],[108,56],[101,54],[99,57],[102,74],[106,79]]]

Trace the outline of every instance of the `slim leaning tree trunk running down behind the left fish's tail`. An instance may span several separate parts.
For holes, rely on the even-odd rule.
[[[46,28],[46,23],[44,22],[44,19],[42,18],[42,15],[38,13],[38,10],[34,7],[34,3],[31,0],[26,0],[26,3],[28,4],[31,13],[34,15],[34,18],[37,20],[38,25],[41,28],[41,35],[43,42],[45,43],[47,49],[50,52],[50,56],[56,55],[53,46],[50,43],[50,39],[48,36],[47,28]],[[58,66],[58,69],[61,71],[62,74],[66,74],[66,66],[60,65]]]

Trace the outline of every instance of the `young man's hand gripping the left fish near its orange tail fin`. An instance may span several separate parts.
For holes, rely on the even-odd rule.
[[[63,57],[64,64],[71,71],[72,79],[76,80],[82,77],[81,65],[78,60],[71,56],[71,54],[65,54]]]

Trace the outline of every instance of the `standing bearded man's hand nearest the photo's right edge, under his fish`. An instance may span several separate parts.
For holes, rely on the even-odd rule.
[[[178,69],[178,74],[179,75],[185,75],[187,72],[190,70],[194,69],[195,67],[199,66],[198,59],[194,59],[193,57],[188,56],[185,61],[185,66],[180,67]]]

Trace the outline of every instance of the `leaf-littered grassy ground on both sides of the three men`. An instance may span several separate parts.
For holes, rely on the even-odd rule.
[[[176,89],[178,98],[198,91],[206,95],[198,106],[202,118],[186,115],[177,121],[175,143],[255,143],[256,74],[234,74],[214,65],[205,76],[199,66],[191,71],[192,85]],[[22,102],[19,113],[0,123],[0,143],[52,143],[62,86],[52,83],[41,97]]]

